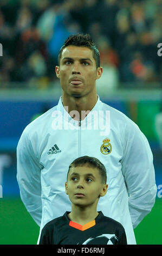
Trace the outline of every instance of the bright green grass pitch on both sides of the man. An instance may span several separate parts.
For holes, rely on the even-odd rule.
[[[39,227],[19,198],[0,199],[0,245],[35,245]],[[137,244],[162,244],[162,199],[155,201],[150,214],[134,229]]]

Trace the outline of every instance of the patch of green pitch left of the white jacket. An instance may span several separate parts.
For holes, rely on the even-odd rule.
[[[0,245],[35,245],[38,225],[21,199],[0,199]]]

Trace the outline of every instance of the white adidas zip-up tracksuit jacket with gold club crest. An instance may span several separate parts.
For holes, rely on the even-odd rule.
[[[47,222],[70,211],[64,188],[68,167],[85,155],[98,158],[107,170],[108,191],[97,210],[120,222],[128,244],[135,244],[133,228],[151,211],[157,193],[153,156],[139,127],[99,96],[80,122],[70,117],[60,97],[57,106],[25,127],[17,146],[17,181],[25,207],[40,233]]]

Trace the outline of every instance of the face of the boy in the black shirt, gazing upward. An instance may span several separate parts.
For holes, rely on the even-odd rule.
[[[69,195],[72,204],[77,206],[97,205],[99,198],[105,196],[107,186],[101,182],[98,168],[87,164],[72,167],[65,184],[66,194]]]

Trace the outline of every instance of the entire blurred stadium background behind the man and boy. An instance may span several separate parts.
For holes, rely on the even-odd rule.
[[[150,143],[158,192],[134,231],[138,244],[162,244],[161,0],[1,1],[0,244],[37,242],[16,181],[16,147],[25,126],[57,104],[57,54],[77,32],[90,33],[100,50],[101,100],[128,115]]]

